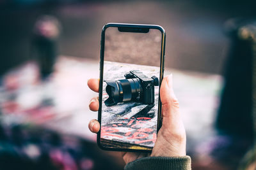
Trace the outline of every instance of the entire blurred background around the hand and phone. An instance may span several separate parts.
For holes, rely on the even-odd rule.
[[[174,76],[193,169],[253,162],[243,158],[254,134],[255,5],[1,0],[0,168],[124,168],[87,127],[97,118],[88,109],[97,94],[87,80],[99,77],[100,33],[108,22],[164,27],[164,74]]]

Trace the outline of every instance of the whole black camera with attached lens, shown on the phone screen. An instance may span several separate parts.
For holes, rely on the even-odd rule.
[[[132,70],[126,73],[125,79],[117,81],[105,81],[106,92],[109,98],[104,102],[106,106],[112,106],[122,102],[138,102],[154,104],[155,88],[159,85],[156,76],[145,76],[141,71]]]

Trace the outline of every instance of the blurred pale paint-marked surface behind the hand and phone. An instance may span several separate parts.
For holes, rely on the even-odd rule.
[[[67,156],[72,158],[72,161],[86,156],[92,162],[97,161],[94,157],[90,157],[97,145],[95,134],[88,130],[88,122],[92,118],[97,118],[97,113],[88,109],[88,103],[90,98],[97,94],[88,89],[87,81],[89,78],[99,77],[99,62],[61,56],[54,70],[49,78],[40,80],[38,66],[35,62],[28,62],[4,74],[0,93],[3,133],[18,127],[19,138],[16,139],[20,141],[21,148],[28,143],[32,145],[29,146],[31,150],[44,150],[50,155],[61,155],[66,151],[58,150],[58,147],[68,143],[77,151],[77,154],[81,155],[81,158]],[[216,134],[214,119],[218,108],[222,78],[214,74],[191,73],[174,69],[166,69],[164,74],[170,73],[173,74],[174,90],[180,101],[180,111],[188,136],[188,150],[192,150],[197,157],[196,153],[200,151],[195,152],[196,143]],[[26,138],[23,133],[31,137]],[[15,134],[10,133],[6,138],[6,143],[13,136]],[[53,137],[48,139],[44,136]],[[40,142],[33,143],[31,138]],[[81,141],[83,145],[79,144]],[[58,143],[58,152],[52,153],[55,146],[45,150],[41,146],[42,143],[48,143],[51,146],[52,143]],[[87,143],[90,144],[87,145]],[[16,147],[18,144],[15,142],[12,145]],[[85,149],[81,150],[81,147]],[[90,150],[90,153],[86,150]],[[96,150],[99,152],[99,148]],[[41,154],[39,151],[35,152]],[[67,152],[67,154],[70,153]],[[104,157],[106,153],[99,152],[100,154]],[[77,160],[75,162],[77,168],[81,168],[77,165]],[[124,166],[122,161],[113,164]],[[116,168],[119,167],[116,166]],[[93,168],[96,167],[93,166]]]

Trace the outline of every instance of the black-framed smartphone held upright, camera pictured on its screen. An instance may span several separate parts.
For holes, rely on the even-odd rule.
[[[159,25],[104,25],[100,41],[97,143],[104,150],[150,152],[161,126],[159,87],[165,32]]]

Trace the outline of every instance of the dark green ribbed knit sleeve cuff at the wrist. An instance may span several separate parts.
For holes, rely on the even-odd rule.
[[[125,170],[190,170],[191,158],[185,157],[144,157],[128,163]]]

